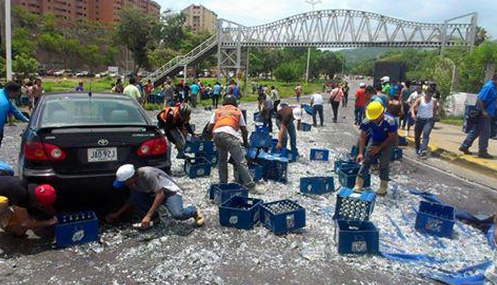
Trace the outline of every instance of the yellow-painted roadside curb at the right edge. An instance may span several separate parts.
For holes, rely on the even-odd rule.
[[[414,138],[409,136],[405,138],[409,147],[414,147]],[[428,149],[433,157],[438,157],[463,167],[472,168],[485,175],[493,177],[497,175],[497,163],[492,160],[481,159],[473,155],[461,155],[432,143],[428,144]]]

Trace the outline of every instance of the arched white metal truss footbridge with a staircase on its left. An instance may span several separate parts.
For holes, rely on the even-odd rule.
[[[188,65],[217,52],[218,77],[227,70],[248,68],[251,47],[472,47],[477,14],[422,23],[357,10],[322,10],[294,15],[269,24],[246,27],[219,19],[217,33],[189,53],[177,56],[151,73],[155,85]],[[243,62],[243,64],[242,64]]]

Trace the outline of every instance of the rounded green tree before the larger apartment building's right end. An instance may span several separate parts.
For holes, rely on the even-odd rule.
[[[135,9],[124,9],[116,26],[117,40],[133,54],[134,72],[149,65],[149,54],[158,44],[161,23]]]

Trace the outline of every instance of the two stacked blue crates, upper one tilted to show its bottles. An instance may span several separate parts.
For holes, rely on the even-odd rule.
[[[339,254],[377,254],[379,233],[369,221],[376,199],[373,192],[354,193],[342,187],[337,194],[335,243]]]

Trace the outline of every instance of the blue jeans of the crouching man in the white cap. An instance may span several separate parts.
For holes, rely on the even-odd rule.
[[[130,201],[135,210],[142,217],[148,213],[154,202],[154,193],[144,193],[140,191],[131,191]],[[183,198],[179,194],[174,194],[162,201],[162,205],[171,213],[176,220],[188,220],[197,215],[197,209],[193,206],[183,208]]]

